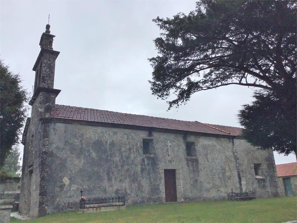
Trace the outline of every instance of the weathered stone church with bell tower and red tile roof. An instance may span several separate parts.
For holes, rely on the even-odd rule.
[[[249,145],[241,128],[56,104],[54,37],[46,25],[33,66],[20,213],[75,210],[80,189],[127,205],[227,199],[232,188],[277,196],[272,151]]]

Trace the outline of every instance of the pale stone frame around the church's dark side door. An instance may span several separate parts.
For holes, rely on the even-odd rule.
[[[183,196],[182,196],[182,187],[181,187],[181,172],[178,164],[162,164],[160,166],[162,202],[166,203],[164,169],[175,169],[177,202],[182,202]]]

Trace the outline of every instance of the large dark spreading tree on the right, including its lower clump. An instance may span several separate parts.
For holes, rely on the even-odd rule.
[[[256,93],[255,104],[240,113],[245,136],[262,148],[296,151],[296,125],[291,125],[296,122],[296,20],[296,1],[208,0],[197,2],[189,15],[154,19],[163,33],[154,40],[159,55],[149,59],[153,95],[165,100],[176,94],[168,101],[170,109],[195,92],[216,87],[264,89]],[[285,135],[277,139],[280,134]],[[268,142],[272,139],[277,142]],[[288,144],[291,149],[285,150]]]

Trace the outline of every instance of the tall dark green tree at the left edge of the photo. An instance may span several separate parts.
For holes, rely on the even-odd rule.
[[[18,74],[0,60],[0,165],[3,166],[12,146],[18,143],[26,118],[27,92]]]

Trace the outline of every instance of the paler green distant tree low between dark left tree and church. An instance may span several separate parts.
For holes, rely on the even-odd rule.
[[[3,169],[10,177],[20,177],[20,150],[18,145],[14,145],[9,155],[5,159]]]

